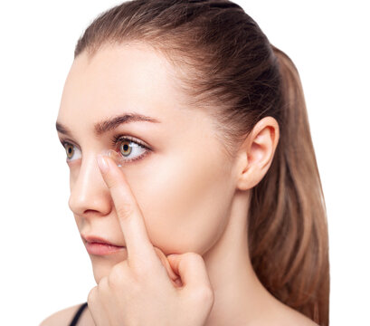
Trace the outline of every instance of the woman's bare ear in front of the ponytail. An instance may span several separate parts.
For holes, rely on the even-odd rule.
[[[254,126],[238,151],[239,189],[251,189],[265,176],[270,168],[279,136],[278,121],[272,117],[265,117]]]

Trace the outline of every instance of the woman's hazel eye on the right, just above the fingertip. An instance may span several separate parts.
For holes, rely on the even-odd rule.
[[[115,136],[112,142],[115,146],[119,146],[119,155],[125,162],[144,158],[150,151],[143,142],[129,136]]]

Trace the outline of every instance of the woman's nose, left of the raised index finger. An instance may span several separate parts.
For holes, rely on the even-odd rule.
[[[78,216],[106,216],[112,208],[109,188],[100,174],[96,156],[84,157],[81,167],[70,175],[71,196],[68,205]]]

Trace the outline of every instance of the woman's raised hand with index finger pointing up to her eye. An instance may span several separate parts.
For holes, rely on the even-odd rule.
[[[100,172],[116,207],[128,258],[112,267],[88,296],[97,326],[201,326],[213,289],[200,254],[169,254],[154,247],[123,172],[104,157]]]

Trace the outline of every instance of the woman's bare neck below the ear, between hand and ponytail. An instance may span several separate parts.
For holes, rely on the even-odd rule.
[[[203,255],[214,292],[204,326],[250,325],[270,314],[277,300],[263,287],[251,266],[247,216],[250,192],[237,192],[223,235]]]

